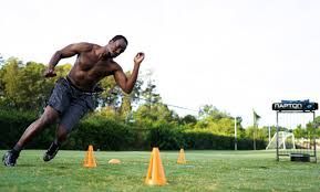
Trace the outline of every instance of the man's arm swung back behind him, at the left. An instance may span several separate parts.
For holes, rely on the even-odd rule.
[[[54,72],[54,67],[59,63],[60,60],[74,56],[74,55],[79,54],[80,52],[86,51],[89,49],[91,49],[91,44],[89,44],[89,43],[75,43],[75,44],[70,44],[70,45],[65,46],[64,49],[56,51],[52,55],[52,57],[49,62],[49,67],[48,67],[48,71],[45,72],[44,76],[45,77],[55,76],[56,74]]]

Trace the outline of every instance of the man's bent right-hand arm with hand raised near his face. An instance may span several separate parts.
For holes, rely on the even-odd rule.
[[[114,79],[116,84],[122,88],[123,92],[130,94],[135,85],[137,79],[140,64],[144,60],[144,53],[137,53],[134,57],[134,67],[130,77],[126,77],[122,70],[114,72]]]

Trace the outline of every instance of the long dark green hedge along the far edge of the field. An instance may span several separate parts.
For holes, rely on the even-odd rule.
[[[12,148],[25,128],[37,118],[38,115],[28,111],[0,109],[0,149]],[[54,132],[55,125],[52,125],[39,134],[25,148],[47,149],[54,139]],[[266,148],[262,140],[257,140],[256,143],[257,149]],[[100,116],[90,116],[74,128],[63,149],[85,150],[89,145],[100,150],[149,150],[155,146],[163,150],[180,148],[233,150],[234,138],[184,129],[184,127],[171,124],[145,129]],[[252,140],[238,139],[238,149],[252,149]]]

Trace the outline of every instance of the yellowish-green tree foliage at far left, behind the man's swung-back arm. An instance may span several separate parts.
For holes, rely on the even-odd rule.
[[[54,82],[65,76],[71,65],[56,66],[58,76],[45,78],[45,66],[41,63],[23,64],[18,58],[9,58],[0,71],[1,106],[41,111],[49,98]]]

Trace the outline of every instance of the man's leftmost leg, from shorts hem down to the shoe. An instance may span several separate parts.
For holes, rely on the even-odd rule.
[[[50,106],[47,106],[42,116],[32,122],[23,132],[19,141],[16,143],[12,150],[4,153],[2,161],[4,166],[13,167],[23,147],[41,130],[49,125],[55,122],[59,118],[59,113]]]

